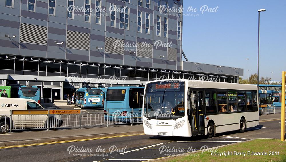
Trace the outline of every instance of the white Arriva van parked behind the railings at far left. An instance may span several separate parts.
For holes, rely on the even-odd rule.
[[[13,114],[11,110],[31,110]],[[35,100],[24,98],[0,98],[0,133],[10,130],[10,118],[12,129],[37,129],[37,128],[56,128],[60,127],[62,120],[59,115],[48,115],[47,112],[41,114],[35,113],[44,108],[35,102]],[[34,112],[33,112],[34,111]],[[48,122],[49,121],[49,122]],[[49,123],[49,125],[48,125]]]

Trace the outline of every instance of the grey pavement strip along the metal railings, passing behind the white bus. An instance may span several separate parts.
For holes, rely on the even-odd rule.
[[[259,120],[275,120],[281,119],[281,114],[268,114],[260,115]],[[11,146],[11,145],[25,145],[32,143],[44,143],[44,142],[55,142],[65,141],[72,139],[87,139],[96,137],[108,137],[118,135],[131,135],[131,134],[142,134],[143,126],[138,125],[109,125],[88,127],[83,129],[56,129],[46,131],[42,130],[27,130],[27,131],[13,131],[12,133],[0,134],[0,147]]]

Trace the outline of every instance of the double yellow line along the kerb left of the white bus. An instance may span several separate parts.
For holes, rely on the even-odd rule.
[[[27,145],[3,146],[3,147],[0,147],[0,149],[9,149],[9,148],[16,148],[16,147],[28,147],[28,146],[40,146],[40,145],[51,145],[51,144],[59,144],[59,143],[90,141],[90,140],[96,140],[96,139],[108,139],[108,138],[129,137],[129,136],[138,136],[138,135],[144,135],[144,133],[134,134],[134,135],[117,135],[117,136],[109,136],[109,137],[96,137],[96,138],[74,139],[74,140],[56,141],[56,142],[34,143],[34,144],[27,144]]]

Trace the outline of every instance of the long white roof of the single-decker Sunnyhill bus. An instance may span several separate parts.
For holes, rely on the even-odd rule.
[[[210,88],[210,89],[227,89],[227,90],[231,90],[231,89],[235,89],[235,90],[257,90],[257,85],[251,85],[251,84],[210,82],[210,81],[188,80],[188,79],[163,79],[163,80],[150,81],[148,83],[164,82],[164,81],[170,81],[170,83],[176,82],[176,81],[186,82],[186,84],[188,84],[188,87],[193,87],[193,88]]]

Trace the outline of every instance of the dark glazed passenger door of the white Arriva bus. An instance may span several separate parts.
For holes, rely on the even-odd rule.
[[[204,134],[204,92],[191,91],[192,135]]]

